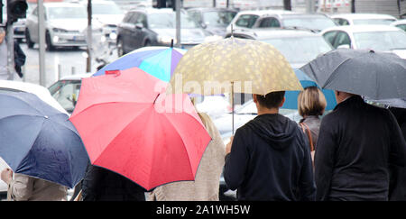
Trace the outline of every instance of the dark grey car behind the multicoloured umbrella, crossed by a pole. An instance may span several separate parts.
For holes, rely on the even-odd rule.
[[[210,40],[212,34],[182,11],[180,14],[180,45],[189,49]],[[144,46],[176,45],[176,13],[168,8],[135,9],[125,14],[118,25],[117,53],[124,55]]]

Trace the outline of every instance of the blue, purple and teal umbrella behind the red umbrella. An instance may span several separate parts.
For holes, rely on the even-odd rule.
[[[174,69],[186,50],[172,47],[144,47],[134,50],[104,68],[98,70],[93,76],[100,76],[106,70],[125,70],[138,67],[148,74],[169,82]]]

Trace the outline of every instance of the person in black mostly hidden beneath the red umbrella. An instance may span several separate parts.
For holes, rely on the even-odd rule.
[[[130,179],[93,165],[82,181],[83,201],[145,201],[144,192]]]

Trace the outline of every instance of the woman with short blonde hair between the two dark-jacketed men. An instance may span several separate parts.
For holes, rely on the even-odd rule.
[[[308,135],[312,159],[318,141],[318,131],[321,123],[320,115],[324,113],[326,105],[326,97],[318,87],[306,87],[299,93],[298,111],[303,117],[299,124],[303,132]]]

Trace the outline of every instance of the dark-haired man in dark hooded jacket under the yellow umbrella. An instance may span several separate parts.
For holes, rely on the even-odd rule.
[[[226,147],[224,178],[238,200],[314,200],[308,141],[297,123],[278,114],[284,91],[254,95],[258,116]]]

